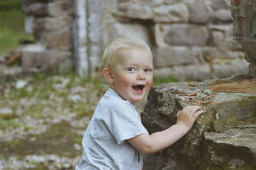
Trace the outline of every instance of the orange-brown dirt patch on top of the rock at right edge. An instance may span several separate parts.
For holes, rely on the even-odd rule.
[[[256,93],[256,78],[238,81],[218,80],[209,87],[211,91],[230,93]]]

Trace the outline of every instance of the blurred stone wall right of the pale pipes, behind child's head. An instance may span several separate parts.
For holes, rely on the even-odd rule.
[[[154,52],[155,75],[184,81],[248,72],[243,48],[232,37],[229,0],[106,2],[104,45],[120,36],[145,40]]]

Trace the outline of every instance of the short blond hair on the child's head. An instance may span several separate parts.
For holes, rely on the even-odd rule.
[[[116,63],[118,50],[131,50],[131,49],[142,49],[151,52],[150,47],[147,43],[143,42],[138,38],[125,37],[118,38],[113,42],[109,43],[103,54],[103,68],[113,68]]]

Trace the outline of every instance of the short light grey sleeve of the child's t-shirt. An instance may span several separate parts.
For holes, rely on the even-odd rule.
[[[137,135],[148,134],[138,112],[128,102],[111,109],[108,128],[118,144]]]

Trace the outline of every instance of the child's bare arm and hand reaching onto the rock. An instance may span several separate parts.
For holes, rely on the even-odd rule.
[[[151,135],[141,134],[128,139],[128,141],[134,148],[145,154],[163,150],[178,141],[190,130],[196,118],[203,112],[197,111],[198,109],[201,107],[188,105],[177,113],[177,123],[172,127]]]

